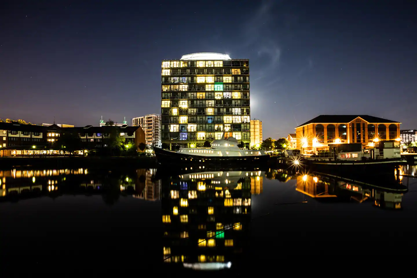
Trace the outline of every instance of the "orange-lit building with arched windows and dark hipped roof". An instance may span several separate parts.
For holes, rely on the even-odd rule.
[[[396,140],[401,123],[369,115],[319,115],[295,128],[296,147],[325,150],[329,144],[373,144],[374,140]]]

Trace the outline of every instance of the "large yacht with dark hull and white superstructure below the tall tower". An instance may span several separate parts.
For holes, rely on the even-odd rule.
[[[180,148],[177,151],[154,148],[156,160],[163,165],[203,165],[209,167],[266,165],[269,155],[264,150],[246,150],[234,137],[216,139],[210,148]]]

